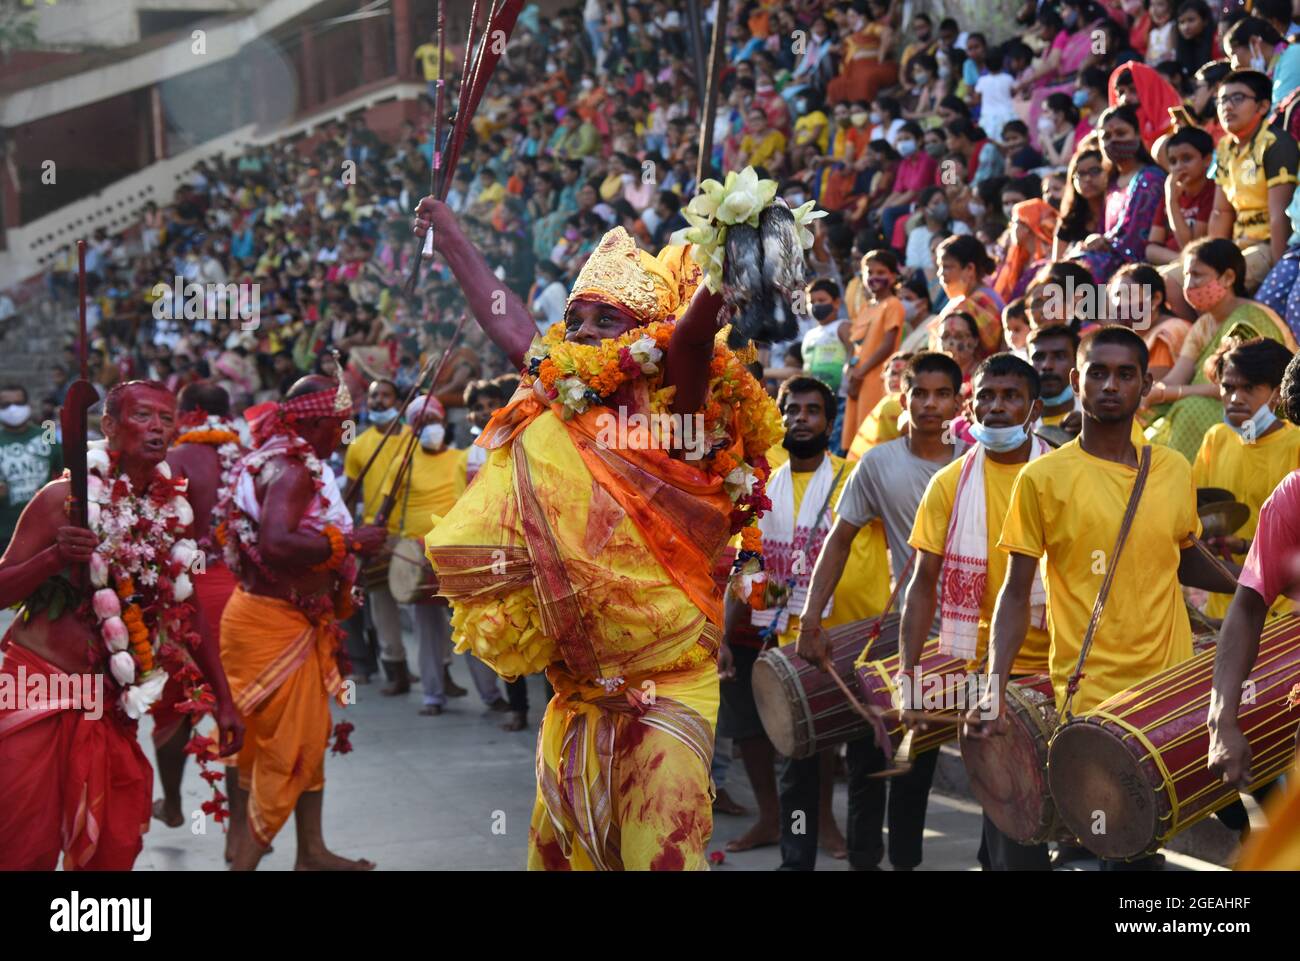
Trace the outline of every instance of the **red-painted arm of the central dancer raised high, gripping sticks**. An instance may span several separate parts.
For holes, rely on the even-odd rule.
[[[433,226],[434,247],[455,274],[478,326],[506,352],[511,364],[521,368],[524,354],[537,334],[528,307],[515,291],[497,280],[484,255],[460,229],[450,207],[426,196],[416,207],[415,216],[416,237],[424,237],[425,230]]]

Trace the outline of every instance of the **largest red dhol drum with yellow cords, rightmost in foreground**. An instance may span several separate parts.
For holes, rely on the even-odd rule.
[[[1062,726],[1052,739],[1048,783],[1062,821],[1098,857],[1150,854],[1179,831],[1238,797],[1206,767],[1214,652],[1161,671]],[[1238,714],[1251,743],[1252,787],[1295,763],[1300,710],[1300,618],[1278,618]]]

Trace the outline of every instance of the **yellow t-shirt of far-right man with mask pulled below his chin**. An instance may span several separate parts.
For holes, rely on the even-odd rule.
[[[1192,481],[1199,488],[1223,488],[1231,490],[1242,503],[1251,508],[1251,519],[1245,521],[1235,537],[1249,541],[1260,524],[1260,507],[1269,499],[1273,489],[1282,479],[1300,467],[1300,429],[1286,421],[1270,434],[1247,443],[1227,424],[1216,424],[1205,432],[1201,449],[1192,464]],[[1236,563],[1245,560],[1245,554],[1232,557]],[[1205,614],[1222,618],[1227,614],[1231,594],[1210,594]],[[1269,614],[1288,614],[1295,603],[1286,596],[1278,597]]]

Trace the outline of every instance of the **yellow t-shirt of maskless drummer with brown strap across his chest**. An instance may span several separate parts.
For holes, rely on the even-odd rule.
[[[1201,531],[1192,467],[1173,447],[1153,445],[1150,454],[1147,488],[1071,705],[1075,714],[1192,655],[1178,584],[1179,553]],[[1046,554],[1048,661],[1058,707],[1136,477],[1136,468],[1096,458],[1075,440],[1026,464],[1011,490],[997,546]]]

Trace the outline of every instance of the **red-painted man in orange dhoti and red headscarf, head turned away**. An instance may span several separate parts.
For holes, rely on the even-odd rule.
[[[352,414],[347,388],[303,377],[282,402],[244,411],[254,450],[233,468],[216,536],[239,586],[221,616],[221,659],[247,726],[233,806],[234,870],[252,870],[295,815],[299,870],[369,870],[325,847],[321,809],[329,698],[346,704],[339,667],[358,554],[385,542],[382,527],[352,529],[324,462]],[[342,728],[342,726],[341,726]],[[335,750],[346,748],[335,728]]]

